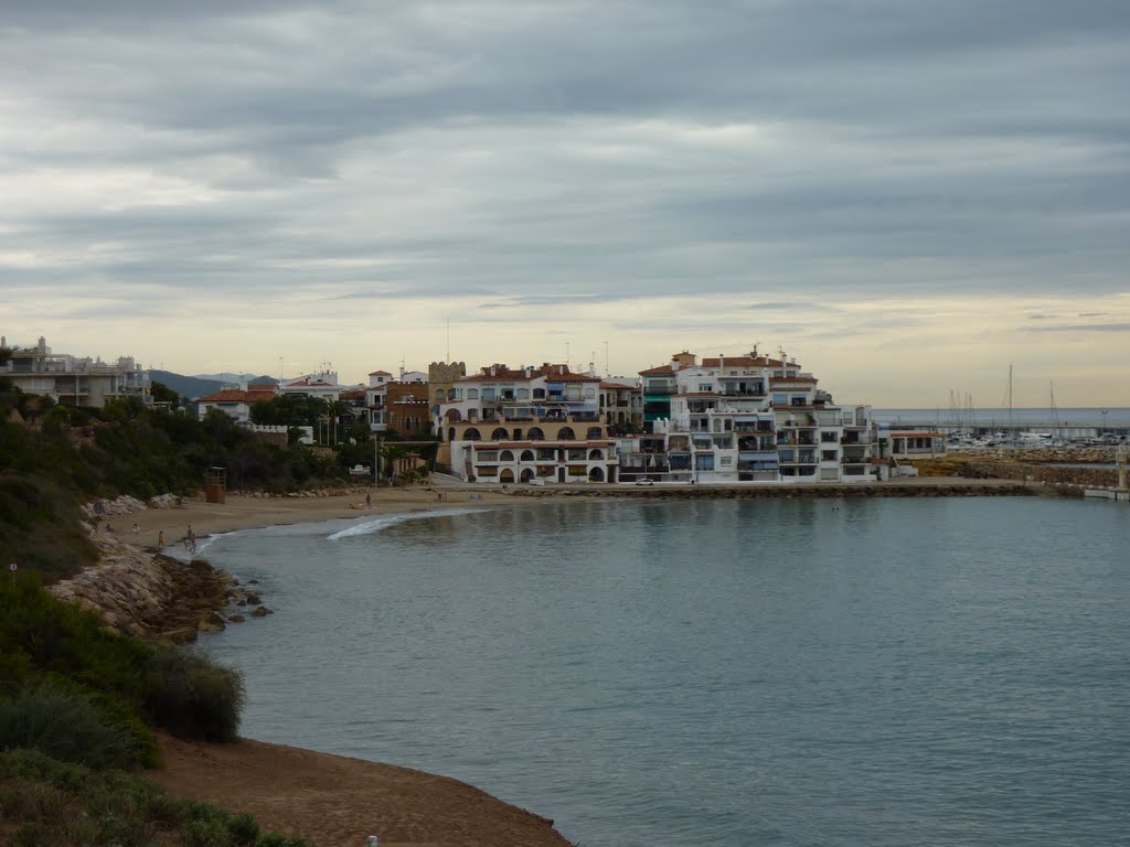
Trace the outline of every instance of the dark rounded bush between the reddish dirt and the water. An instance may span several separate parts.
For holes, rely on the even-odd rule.
[[[245,691],[238,671],[189,649],[165,650],[149,662],[147,711],[174,735],[235,741]]]

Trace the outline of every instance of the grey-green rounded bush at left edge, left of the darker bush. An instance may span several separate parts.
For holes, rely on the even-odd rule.
[[[92,768],[129,767],[144,752],[128,723],[107,718],[92,697],[50,682],[0,700],[0,748],[38,750]]]

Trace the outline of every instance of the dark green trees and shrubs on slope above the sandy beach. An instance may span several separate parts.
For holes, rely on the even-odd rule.
[[[268,444],[221,412],[201,421],[137,400],[73,409],[0,378],[0,562],[47,579],[73,574],[96,558],[79,525],[81,503],[189,495],[215,465],[227,469],[234,490],[290,491],[347,478],[333,457]]]

